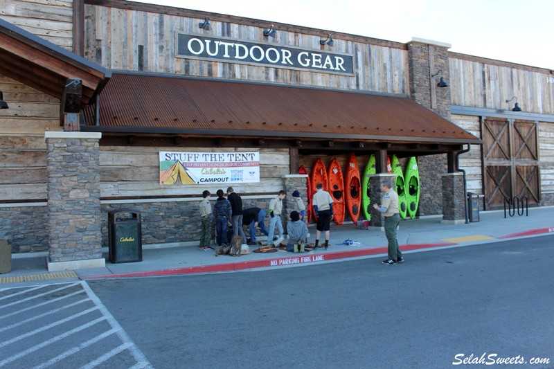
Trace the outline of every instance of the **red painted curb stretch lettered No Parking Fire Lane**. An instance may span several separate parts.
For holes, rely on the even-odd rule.
[[[452,246],[450,242],[437,244],[404,244],[400,247],[402,251],[418,249],[431,249],[435,247]],[[355,249],[346,251],[335,251],[330,253],[303,253],[298,256],[286,256],[283,258],[268,258],[262,260],[249,260],[244,262],[231,262],[225,264],[200,265],[197,267],[185,267],[177,269],[164,269],[157,271],[137,271],[132,273],[107,274],[103,276],[83,276],[81,279],[105,279],[105,278],[134,278],[152,276],[177,276],[182,274],[216,273],[222,271],[240,271],[245,269],[283,267],[285,265],[307,264],[312,262],[323,262],[326,260],[337,260],[346,258],[357,258],[359,256],[377,255],[387,253],[386,247],[375,249]]]

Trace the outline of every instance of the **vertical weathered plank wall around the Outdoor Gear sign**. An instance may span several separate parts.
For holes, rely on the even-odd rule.
[[[195,75],[208,78],[276,82],[332,89],[394,93],[407,96],[408,54],[400,48],[368,45],[334,38],[334,46],[321,46],[320,36],[277,30],[263,37],[262,29],[210,20],[209,37],[233,37],[251,42],[295,46],[354,55],[355,75],[278,69],[251,64],[207,62],[176,57],[177,33],[197,34],[202,19],[153,12],[85,5],[85,57],[107,69]],[[143,69],[139,68],[139,46]]]

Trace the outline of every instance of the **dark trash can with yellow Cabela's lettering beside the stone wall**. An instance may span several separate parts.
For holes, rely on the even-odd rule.
[[[143,261],[141,213],[118,209],[108,213],[109,261]]]

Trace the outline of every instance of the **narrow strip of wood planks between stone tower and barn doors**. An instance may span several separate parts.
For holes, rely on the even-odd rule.
[[[465,129],[476,137],[481,137],[481,125],[478,116],[461,116],[452,114],[452,123]],[[483,195],[483,167],[481,151],[483,146],[472,145],[469,152],[460,155],[459,168],[465,170],[467,191]]]

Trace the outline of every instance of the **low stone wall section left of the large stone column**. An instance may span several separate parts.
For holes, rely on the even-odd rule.
[[[0,240],[8,240],[12,253],[47,251],[47,224],[46,206],[0,208]]]

